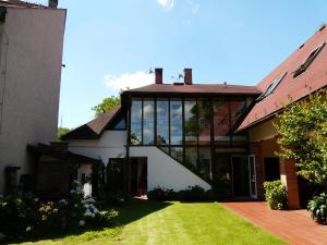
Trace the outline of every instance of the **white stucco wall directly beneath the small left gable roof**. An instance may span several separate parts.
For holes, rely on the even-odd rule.
[[[69,150],[75,154],[101,159],[105,164],[109,158],[124,158],[126,131],[105,131],[99,139],[69,140]]]

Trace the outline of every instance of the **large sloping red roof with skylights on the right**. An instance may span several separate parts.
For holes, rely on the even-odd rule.
[[[286,74],[271,94],[254,105],[238,131],[275,117],[284,106],[298,101],[327,85],[327,45],[306,65],[313,51],[324,42],[327,44],[327,27],[322,26],[303,46],[300,46],[289,58],[257,84],[257,88],[264,93],[274,81]],[[295,75],[294,72],[301,65],[302,68],[305,66],[305,71]]]

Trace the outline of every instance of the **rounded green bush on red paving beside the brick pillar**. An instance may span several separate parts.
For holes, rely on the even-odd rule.
[[[266,200],[271,209],[281,210],[287,208],[288,194],[281,181],[265,182],[264,187]]]

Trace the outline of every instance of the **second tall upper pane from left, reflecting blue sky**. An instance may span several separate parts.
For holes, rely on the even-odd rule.
[[[155,139],[155,102],[143,101],[143,145],[153,145]]]

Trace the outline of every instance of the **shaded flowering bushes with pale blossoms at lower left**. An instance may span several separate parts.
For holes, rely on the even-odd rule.
[[[59,201],[40,201],[31,194],[0,198],[0,231],[9,238],[35,237],[112,224],[113,218],[118,216],[117,211],[99,211],[95,199],[84,197],[77,182],[73,185],[70,197]]]

